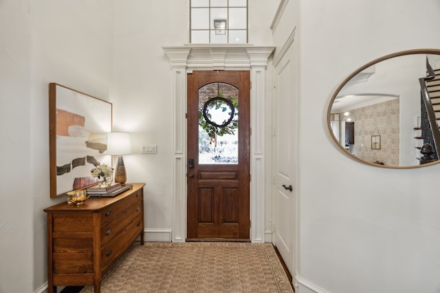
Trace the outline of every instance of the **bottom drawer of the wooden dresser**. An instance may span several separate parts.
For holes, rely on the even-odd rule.
[[[131,220],[123,229],[115,235],[110,242],[102,246],[101,249],[101,268],[106,270],[107,266],[112,263],[112,261],[119,257],[129,244],[133,242],[137,236],[142,232],[142,214],[137,215]]]

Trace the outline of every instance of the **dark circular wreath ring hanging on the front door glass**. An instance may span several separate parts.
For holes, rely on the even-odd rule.
[[[203,117],[212,126],[228,126],[234,118],[234,105],[224,97],[213,97],[203,106]]]

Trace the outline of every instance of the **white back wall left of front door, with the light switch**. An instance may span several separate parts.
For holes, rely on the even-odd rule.
[[[172,228],[173,95],[162,46],[188,42],[186,11],[186,1],[115,2],[114,129],[134,133],[124,163],[127,180],[146,183],[147,229]],[[142,144],[157,154],[140,154]]]

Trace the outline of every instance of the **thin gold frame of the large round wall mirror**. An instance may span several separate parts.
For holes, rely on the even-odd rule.
[[[366,63],[366,65],[363,65],[362,67],[360,67],[359,69],[357,69],[356,71],[354,71],[353,73],[351,73],[347,78],[345,78],[345,80],[338,86],[338,89],[336,89],[336,91],[333,93],[333,95],[331,96],[331,100],[329,102],[329,106],[327,108],[327,128],[329,130],[329,133],[331,134],[331,137],[333,139],[333,141],[336,143],[336,145],[338,145],[338,148],[340,148],[345,154],[347,154],[350,158],[355,159],[355,161],[359,161],[360,163],[364,163],[366,165],[371,165],[374,167],[382,167],[382,168],[389,168],[389,169],[413,169],[413,168],[419,168],[419,167],[428,167],[428,166],[432,166],[432,165],[437,165],[438,163],[440,163],[440,159],[431,163],[426,163],[423,165],[404,165],[404,166],[397,166],[397,165],[381,165],[380,163],[373,163],[373,162],[369,162],[369,161],[365,161],[364,159],[360,159],[358,156],[355,156],[353,154],[351,154],[351,152],[349,152],[348,150],[346,150],[344,148],[344,146],[342,146],[342,144],[340,143],[340,141],[335,137],[335,134],[333,134],[333,130],[331,128],[331,108],[335,102],[335,99],[338,97],[338,94],[340,93],[340,91],[344,88],[344,86],[347,85],[347,83],[352,80],[356,75],[358,75],[359,73],[361,73],[362,71],[364,71],[365,69],[376,65],[379,62],[382,62],[384,60],[388,60],[391,58],[396,58],[399,56],[406,56],[406,55],[415,55],[415,54],[432,54],[432,55],[439,55],[440,56],[440,49],[412,49],[412,50],[406,50],[406,51],[399,51],[393,54],[388,54],[386,56],[382,56],[380,58],[377,58],[371,62]],[[440,146],[439,146],[440,148]]]

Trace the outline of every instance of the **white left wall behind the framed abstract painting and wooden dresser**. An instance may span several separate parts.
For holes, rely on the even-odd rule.
[[[0,292],[47,281],[43,209],[65,200],[49,197],[48,84],[108,98],[112,14],[104,1],[0,3]]]

